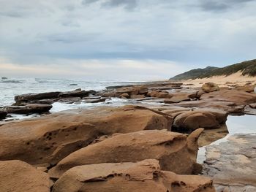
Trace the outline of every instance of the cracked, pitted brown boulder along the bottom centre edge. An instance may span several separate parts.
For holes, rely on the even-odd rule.
[[[148,159],[138,163],[75,166],[53,185],[53,192],[63,191],[214,192],[214,187],[207,177],[161,171],[157,160]]]

